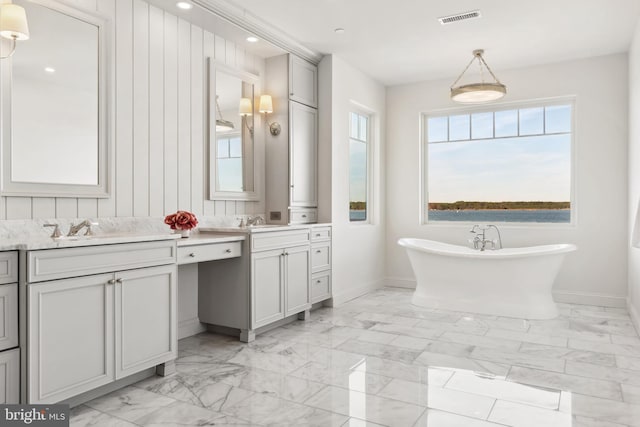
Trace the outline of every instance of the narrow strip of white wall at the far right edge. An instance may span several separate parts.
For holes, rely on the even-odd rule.
[[[629,48],[629,235],[640,233],[640,21]],[[636,223],[636,224],[634,224]],[[634,230],[635,228],[635,230]],[[629,312],[640,330],[640,249],[629,248]]]

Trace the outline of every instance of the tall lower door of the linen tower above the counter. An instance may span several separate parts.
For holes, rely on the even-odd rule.
[[[318,206],[318,110],[289,102],[289,205]]]

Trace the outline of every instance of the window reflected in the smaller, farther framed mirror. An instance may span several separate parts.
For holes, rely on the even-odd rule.
[[[218,137],[218,191],[244,191],[242,179],[242,137],[239,133]]]

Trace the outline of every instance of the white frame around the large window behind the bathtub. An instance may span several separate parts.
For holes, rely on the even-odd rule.
[[[420,113],[420,137],[419,137],[419,170],[420,170],[420,182],[419,182],[419,223],[421,225],[427,226],[440,226],[440,227],[451,227],[451,226],[461,226],[468,227],[470,224],[474,224],[473,221],[434,221],[429,220],[428,213],[428,203],[429,203],[429,142],[428,142],[428,119],[430,117],[439,117],[439,116],[453,116],[453,115],[461,115],[461,114],[475,114],[475,113],[483,113],[483,112],[498,112],[503,110],[522,110],[527,108],[534,107],[551,107],[554,105],[571,105],[571,153],[570,153],[570,168],[569,176],[571,179],[569,188],[570,188],[570,219],[569,222],[565,223],[552,223],[552,222],[505,222],[505,221],[492,221],[495,224],[500,225],[501,227],[513,227],[513,228],[575,228],[578,225],[578,200],[577,200],[577,167],[576,167],[576,152],[577,152],[577,138],[576,138],[576,129],[577,129],[577,97],[576,96],[561,96],[561,97],[553,97],[553,98],[540,98],[540,99],[532,99],[525,101],[514,101],[514,102],[502,102],[502,103],[492,103],[488,105],[475,105],[475,106],[465,106],[458,108],[446,108],[439,110],[429,110],[423,111]],[[470,134],[471,136],[471,134]],[[518,137],[527,137],[527,135],[522,135]],[[490,138],[490,139],[501,139],[499,138]],[[482,141],[483,139],[470,139],[470,141]],[[466,140],[465,140],[466,141]]]

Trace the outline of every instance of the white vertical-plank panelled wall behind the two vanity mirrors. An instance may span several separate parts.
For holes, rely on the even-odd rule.
[[[264,202],[205,200],[204,148],[206,58],[260,76],[264,60],[142,0],[74,4],[113,18],[111,197],[0,197],[0,220],[263,212]]]

